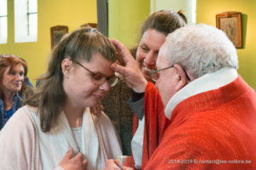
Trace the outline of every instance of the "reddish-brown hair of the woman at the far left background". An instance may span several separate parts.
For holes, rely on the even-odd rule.
[[[21,64],[24,68],[24,80],[22,82],[22,86],[20,89],[19,95],[23,95],[26,91],[26,74],[27,74],[27,65],[26,62],[24,62],[19,57],[13,55],[13,54],[2,54],[0,55],[0,98],[3,98],[3,73],[6,71],[9,67],[9,73],[13,71],[15,65]]]

